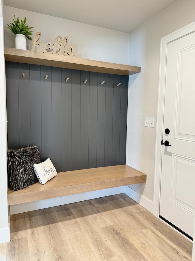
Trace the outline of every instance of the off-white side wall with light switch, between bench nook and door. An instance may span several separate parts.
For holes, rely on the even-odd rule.
[[[129,35],[129,64],[141,73],[129,77],[126,164],[147,174],[147,183],[131,185],[153,201],[160,39],[195,21],[195,1],[180,0]],[[155,127],[144,127],[145,117]],[[159,140],[160,142],[160,140]]]

